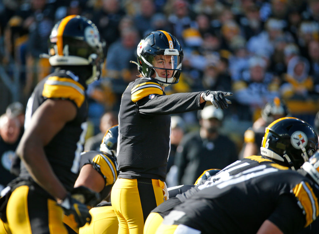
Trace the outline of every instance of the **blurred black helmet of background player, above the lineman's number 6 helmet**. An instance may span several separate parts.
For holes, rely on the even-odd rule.
[[[278,97],[268,102],[261,110],[262,118],[269,124],[278,118],[286,117],[288,114],[289,110],[285,102]]]

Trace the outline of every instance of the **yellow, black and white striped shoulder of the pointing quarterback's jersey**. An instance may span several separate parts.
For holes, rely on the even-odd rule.
[[[131,100],[132,102],[137,102],[144,97],[150,96],[152,98],[152,94],[164,94],[162,87],[147,78],[142,78],[131,89]]]

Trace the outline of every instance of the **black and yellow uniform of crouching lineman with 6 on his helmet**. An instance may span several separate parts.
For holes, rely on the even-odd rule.
[[[232,164],[225,167],[223,170],[220,170],[216,175],[211,176],[206,180],[200,181],[197,185],[182,185],[182,187],[179,189],[181,191],[186,190],[185,192],[177,194],[175,198],[170,198],[151,211],[149,217],[147,217],[145,222],[144,233],[154,234],[159,224],[163,221],[165,215],[168,215],[174,207],[186,201],[200,190],[212,186],[216,181],[220,179],[226,180],[230,176],[237,175],[244,170],[248,170],[259,165],[273,165],[274,167],[281,167],[280,165],[273,162],[271,159],[264,158],[263,156],[251,155],[244,159],[233,162]],[[184,187],[186,187],[186,189]]]

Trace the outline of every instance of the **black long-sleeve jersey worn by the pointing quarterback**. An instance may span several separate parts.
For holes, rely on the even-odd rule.
[[[170,151],[170,116],[203,109],[201,92],[165,95],[152,78],[137,78],[122,95],[117,162],[119,178],[165,180]]]

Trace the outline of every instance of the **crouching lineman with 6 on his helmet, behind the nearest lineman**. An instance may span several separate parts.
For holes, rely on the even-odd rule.
[[[212,186],[216,181],[227,180],[231,176],[262,165],[269,165],[277,169],[300,168],[318,149],[318,138],[308,123],[297,118],[284,117],[272,122],[266,128],[261,149],[261,156],[252,155],[238,160],[216,175],[208,177],[207,180],[197,182],[198,184],[187,192],[160,204],[148,216],[144,233],[154,234],[163,217],[174,207],[204,188]]]

